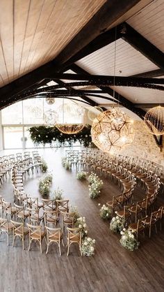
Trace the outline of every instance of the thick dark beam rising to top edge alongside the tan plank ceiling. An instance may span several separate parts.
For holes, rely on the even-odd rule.
[[[55,64],[62,68],[62,65],[72,64],[72,57],[77,56],[86,45],[93,41],[97,36],[107,30],[111,24],[118,20],[124,13],[135,6],[139,0],[107,0],[106,3],[95,13],[91,20],[85,24],[85,27],[79,31],[79,34],[58,54]]]

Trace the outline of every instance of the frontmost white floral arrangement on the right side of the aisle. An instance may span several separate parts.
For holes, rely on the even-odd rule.
[[[134,249],[138,249],[140,242],[136,240],[135,236],[131,231],[123,228],[123,230],[120,233],[122,235],[122,238],[120,239],[122,247],[129,249],[131,251],[133,251]]]

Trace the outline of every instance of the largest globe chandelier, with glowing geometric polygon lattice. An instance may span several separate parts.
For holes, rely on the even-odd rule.
[[[102,151],[113,154],[133,142],[133,120],[120,110],[106,110],[92,123],[92,142]]]

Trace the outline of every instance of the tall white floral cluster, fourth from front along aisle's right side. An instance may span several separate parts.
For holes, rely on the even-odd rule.
[[[95,173],[91,173],[88,177],[88,182],[90,183],[88,186],[90,198],[97,198],[101,193],[103,181]]]

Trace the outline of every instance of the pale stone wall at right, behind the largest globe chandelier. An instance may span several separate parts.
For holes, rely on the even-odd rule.
[[[127,156],[140,156],[149,159],[164,167],[164,141],[163,147],[160,149],[160,147],[156,145],[154,137],[147,130],[147,126],[144,122],[134,122],[134,129],[135,138],[133,143],[126,146],[120,152]]]

